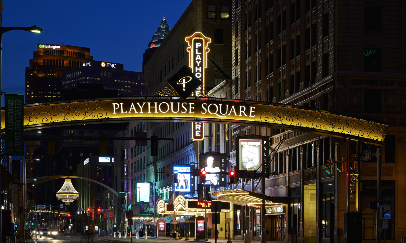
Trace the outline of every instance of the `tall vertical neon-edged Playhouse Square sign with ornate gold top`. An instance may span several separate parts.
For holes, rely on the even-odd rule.
[[[188,43],[186,50],[189,52],[189,67],[195,77],[201,81],[193,96],[201,96],[205,88],[205,68],[207,67],[207,52],[209,52],[210,38],[205,37],[201,32],[195,32],[190,37],[186,37]],[[202,141],[204,139],[203,123],[192,123],[192,140]]]

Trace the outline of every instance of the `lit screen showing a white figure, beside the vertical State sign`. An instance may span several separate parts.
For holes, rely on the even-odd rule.
[[[206,174],[206,185],[225,187],[227,175],[216,174],[216,172],[227,172],[227,161],[224,153],[201,153],[200,161],[203,164],[201,170],[209,172]]]

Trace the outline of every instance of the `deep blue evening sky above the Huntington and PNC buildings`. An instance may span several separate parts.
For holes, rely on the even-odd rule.
[[[2,91],[24,94],[25,68],[37,43],[89,47],[94,60],[123,63],[125,70],[141,72],[143,53],[161,23],[164,6],[172,29],[190,2],[3,0],[3,27],[36,24],[43,33],[13,30],[3,34]]]

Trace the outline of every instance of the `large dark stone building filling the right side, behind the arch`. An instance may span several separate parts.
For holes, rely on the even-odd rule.
[[[380,204],[396,212],[386,229],[386,239],[395,241],[406,230],[404,200],[399,199],[405,195],[405,105],[397,102],[405,99],[406,89],[405,25],[392,19],[404,13],[403,1],[234,0],[232,15],[233,98],[349,113],[389,125],[390,135],[382,146]],[[328,174],[326,165],[329,159],[346,157],[346,140],[232,125],[232,163],[235,136],[246,134],[270,137],[271,151],[285,139],[272,155],[273,175],[265,193],[288,197],[289,203],[277,213],[267,211],[264,235],[253,228],[261,211],[235,205],[234,239],[253,230],[251,239],[286,241],[291,228],[297,242],[343,242],[346,174]],[[370,209],[369,202],[377,197],[376,147],[352,141],[350,149],[351,155],[371,153],[369,160],[356,162],[362,173],[353,182],[350,211],[362,213],[357,223],[363,227],[358,230],[360,239],[375,242],[377,210]]]

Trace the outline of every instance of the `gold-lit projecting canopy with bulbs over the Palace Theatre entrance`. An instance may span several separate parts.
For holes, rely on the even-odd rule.
[[[209,193],[211,193],[213,196],[217,196],[219,200],[229,201],[243,206],[262,205],[262,194],[255,193],[252,191],[234,189],[234,190],[211,191]],[[288,203],[289,203],[288,197],[265,196],[265,207]]]

